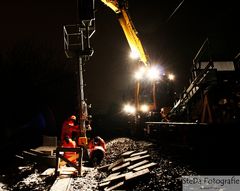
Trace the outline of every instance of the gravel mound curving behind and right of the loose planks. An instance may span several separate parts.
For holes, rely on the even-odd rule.
[[[114,162],[122,153],[130,150],[148,150],[151,161],[157,163],[157,166],[151,170],[149,176],[131,182],[130,185],[124,187],[125,190],[182,190],[181,176],[196,174],[194,171],[190,170],[189,167],[165,158],[163,153],[161,153],[161,149],[151,142],[118,138],[110,141],[107,147],[108,151],[102,162],[103,165]]]

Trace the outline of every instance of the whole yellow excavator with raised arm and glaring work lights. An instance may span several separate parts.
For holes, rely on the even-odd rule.
[[[160,71],[157,65],[150,62],[128,13],[127,0],[101,1],[116,13],[131,52],[138,58],[134,99],[130,98],[134,102],[126,103],[123,111],[129,116],[131,134],[141,136],[144,134],[145,122],[166,119],[164,113],[171,109],[166,100],[171,98],[173,102],[174,99],[174,75]]]

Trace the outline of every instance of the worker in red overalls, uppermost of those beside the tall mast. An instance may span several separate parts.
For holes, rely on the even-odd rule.
[[[78,131],[78,125],[75,125],[76,116],[71,115],[67,120],[63,122],[62,132],[61,132],[61,143],[63,144],[64,138],[68,136],[69,138],[73,138],[73,132]]]

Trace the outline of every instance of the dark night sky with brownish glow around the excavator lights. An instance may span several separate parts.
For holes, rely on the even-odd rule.
[[[115,13],[96,1],[96,33],[91,39],[95,52],[85,66],[85,95],[96,111],[107,111],[122,102],[133,85],[134,62],[128,58],[129,47]],[[129,12],[144,48],[154,63],[176,74],[178,91],[187,82],[192,59],[207,37],[216,59],[233,59],[240,40],[236,1],[185,0],[167,22],[180,2],[129,0]],[[74,23],[76,0],[2,0],[0,53],[5,55],[21,41],[33,41],[43,49],[51,47],[59,62],[54,67],[62,67],[62,73],[69,71],[72,66],[65,59],[62,26]]]

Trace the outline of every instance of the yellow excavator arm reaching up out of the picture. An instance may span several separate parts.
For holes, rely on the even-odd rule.
[[[123,29],[132,53],[136,54],[139,59],[147,66],[148,58],[143,49],[142,43],[137,36],[137,31],[127,12],[126,6],[120,4],[118,0],[101,0],[105,5],[110,7],[118,16],[118,21]]]

